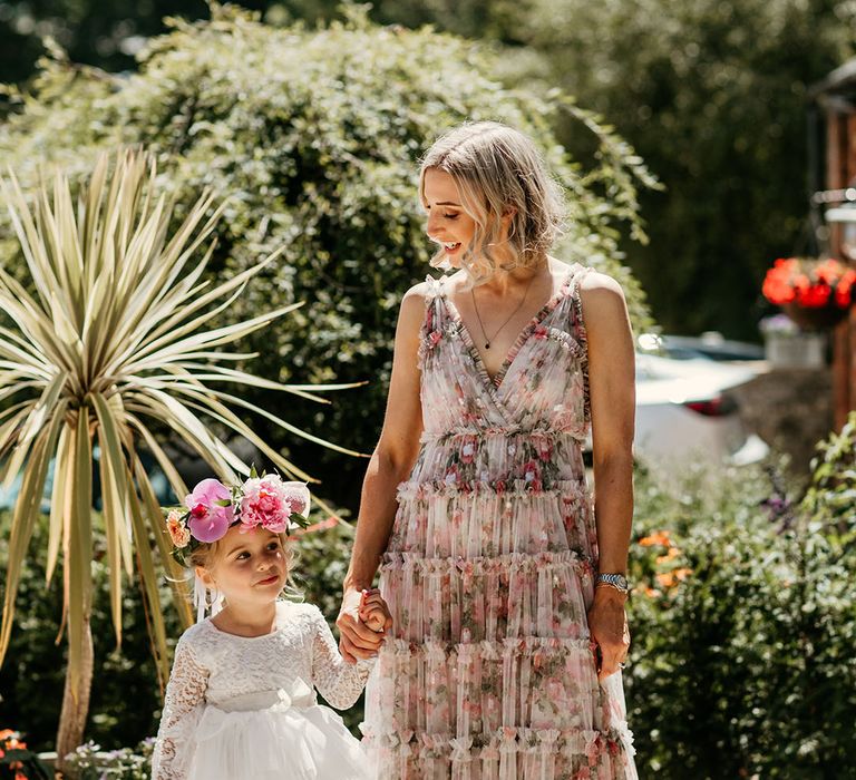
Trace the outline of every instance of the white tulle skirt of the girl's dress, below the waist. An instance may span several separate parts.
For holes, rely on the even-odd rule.
[[[360,742],[330,708],[206,706],[188,780],[372,780]]]

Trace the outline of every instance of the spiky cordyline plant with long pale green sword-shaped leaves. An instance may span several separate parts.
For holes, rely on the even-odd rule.
[[[281,384],[223,364],[253,355],[222,352],[218,348],[300,304],[203,330],[278,253],[208,290],[201,277],[213,242],[201,261],[194,257],[202,254],[223,206],[213,208],[214,195],[203,194],[171,236],[173,204],[156,195],[155,175],[152,157],[121,150],[113,165],[106,155],[98,159],[88,183],[80,187],[77,204],[69,182],[59,173],[52,192],[42,184],[32,203],[28,203],[13,175],[2,182],[33,293],[0,269],[0,308],[9,323],[0,324],[3,486],[8,489],[22,471],[9,539],[0,663],[9,646],[21,565],[41,505],[49,462],[55,459],[47,576],[49,582],[61,549],[68,682],[75,698],[91,604],[96,442],[100,450],[100,517],[116,641],[121,640],[123,572],[132,577],[136,568],[162,681],[168,674],[168,659],[156,559],[173,582],[181,581],[181,569],[169,555],[171,542],[139,449],[154,455],[177,496],[184,497],[187,489],[158,443],[150,420],[159,426],[166,423],[173,436],[198,452],[221,479],[232,482],[236,475],[249,474],[250,467],[206,427],[205,419],[249,439],[291,479],[310,478],[265,445],[231,406],[250,409],[295,435],[357,455],[300,431],[236,394],[211,387],[213,382],[252,384],[320,401],[310,390],[352,386]],[[153,538],[157,555],[153,553]],[[175,601],[184,622],[189,624],[183,594]]]

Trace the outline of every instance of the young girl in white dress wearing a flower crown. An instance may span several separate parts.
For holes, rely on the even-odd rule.
[[[305,486],[276,476],[232,489],[208,479],[169,513],[175,555],[195,568],[196,597],[214,614],[176,646],[153,780],[371,777],[360,743],[315,689],[337,709],[351,706],[373,659],[346,663],[317,606],[279,597],[288,532],[308,501]],[[389,627],[377,592],[366,593],[361,616]]]

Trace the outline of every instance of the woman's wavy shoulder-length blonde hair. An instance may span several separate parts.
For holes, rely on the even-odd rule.
[[[562,233],[562,188],[551,178],[532,139],[507,125],[466,123],[438,138],[419,170],[422,202],[429,168],[453,177],[464,211],[476,222],[473,245],[461,260],[461,267],[476,284],[500,269],[537,265]],[[505,215],[510,220],[503,246],[515,259],[512,262],[502,262],[497,253]],[[442,257],[438,252],[431,265],[440,265]]]

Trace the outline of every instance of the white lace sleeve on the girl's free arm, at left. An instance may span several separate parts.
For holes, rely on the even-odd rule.
[[[193,735],[205,703],[208,670],[185,637],[175,649],[164,712],[152,757],[152,780],[183,780],[193,758]]]

